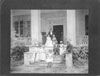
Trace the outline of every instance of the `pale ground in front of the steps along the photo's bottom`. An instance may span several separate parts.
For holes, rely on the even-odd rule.
[[[51,68],[44,61],[24,65],[24,61],[11,62],[11,73],[88,73],[88,64],[76,62],[72,68],[66,67],[65,63],[53,63]]]

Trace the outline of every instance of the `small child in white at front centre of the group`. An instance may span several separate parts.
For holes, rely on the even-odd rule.
[[[52,67],[53,63],[53,50],[49,49],[48,53],[46,54],[46,62],[47,62],[47,67]]]

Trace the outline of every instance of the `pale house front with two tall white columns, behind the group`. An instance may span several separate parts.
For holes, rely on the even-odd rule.
[[[72,45],[88,45],[88,16],[86,9],[74,10],[11,10],[11,40],[32,45],[42,42],[42,34],[52,29],[57,40],[70,39]]]

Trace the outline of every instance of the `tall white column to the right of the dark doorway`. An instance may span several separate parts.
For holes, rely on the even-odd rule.
[[[76,45],[76,11],[67,10],[67,38]]]

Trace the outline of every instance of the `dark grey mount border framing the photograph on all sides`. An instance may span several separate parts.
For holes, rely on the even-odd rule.
[[[1,4],[1,74],[10,73],[10,10],[11,9],[89,9],[89,73],[100,74],[100,1],[99,0],[3,0]],[[90,27],[91,26],[91,27]],[[96,50],[96,51],[95,51]],[[28,74],[28,75],[41,75]],[[49,75],[49,74],[45,74]],[[50,75],[61,75],[51,74]]]

